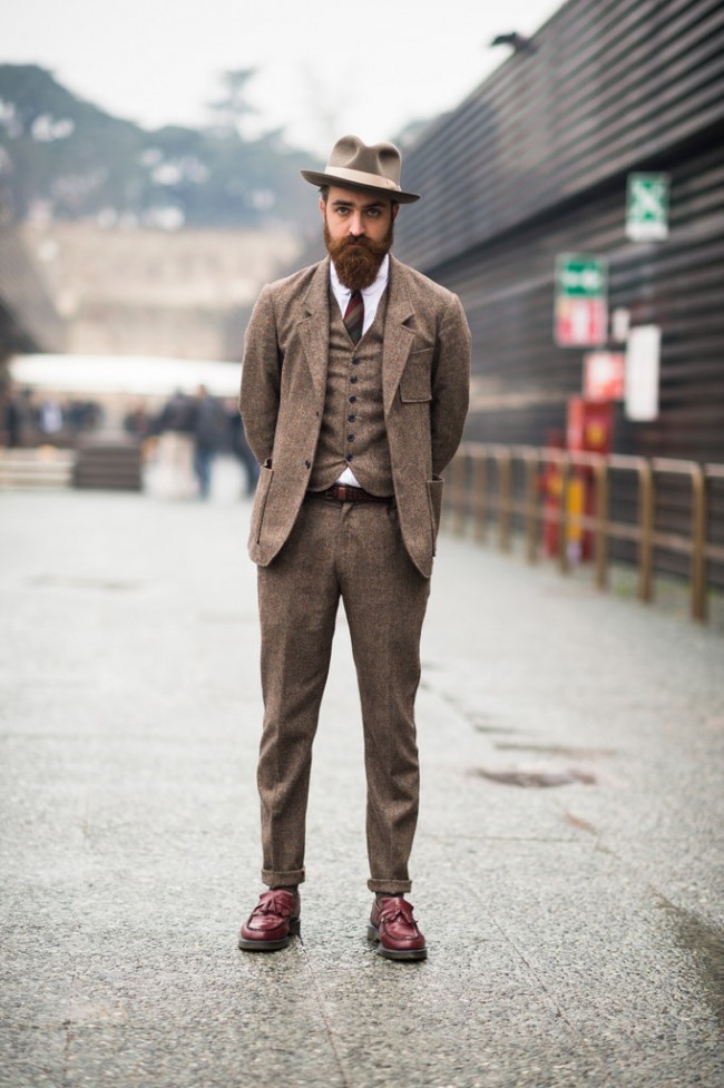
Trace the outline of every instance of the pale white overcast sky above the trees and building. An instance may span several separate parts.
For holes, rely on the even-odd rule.
[[[562,0],[6,0],[0,63],[38,63],[69,90],[155,128],[208,120],[218,73],[254,68],[256,130],[322,158],[344,133],[390,139],[457,106]],[[251,135],[251,130],[250,130]]]

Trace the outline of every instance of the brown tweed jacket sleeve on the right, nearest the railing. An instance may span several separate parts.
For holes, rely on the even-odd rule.
[[[452,460],[470,403],[472,337],[457,295],[440,322],[437,362],[432,374],[432,471],[440,476]]]

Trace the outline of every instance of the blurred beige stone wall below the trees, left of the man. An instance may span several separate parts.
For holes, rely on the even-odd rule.
[[[288,231],[26,223],[27,251],[75,354],[238,359],[262,284],[300,252]]]

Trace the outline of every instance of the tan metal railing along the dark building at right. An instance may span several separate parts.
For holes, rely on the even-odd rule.
[[[643,601],[654,599],[656,556],[683,556],[691,616],[706,621],[710,568],[724,565],[724,545],[712,539],[710,523],[711,490],[715,481],[724,483],[724,464],[466,442],[446,480],[447,528],[459,535],[471,529],[476,540],[486,541],[495,525],[502,551],[511,549],[517,529],[529,562],[538,560],[542,537],[561,574],[589,561],[601,590],[609,587],[614,541],[634,549]],[[657,500],[676,480],[687,483],[687,496],[669,528],[657,519]],[[617,492],[628,497],[628,506]],[[633,517],[626,518],[633,494]]]

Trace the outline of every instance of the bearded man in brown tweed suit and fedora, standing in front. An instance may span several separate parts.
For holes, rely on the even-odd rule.
[[[393,960],[425,942],[404,899],[418,815],[414,698],[440,519],[440,473],[468,409],[458,297],[390,256],[401,204],[392,144],[340,139],[321,187],[329,257],[263,288],[246,333],[241,412],[261,464],[264,727],[257,782],[264,892],[239,948],[300,929],[312,742],[340,597],[358,674],[368,785],[368,937]]]

